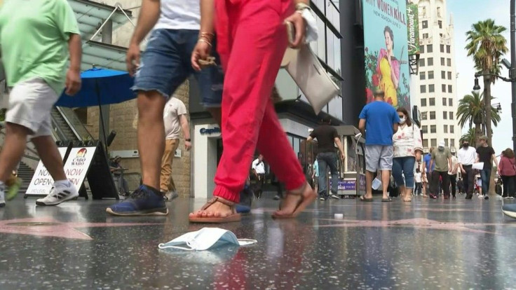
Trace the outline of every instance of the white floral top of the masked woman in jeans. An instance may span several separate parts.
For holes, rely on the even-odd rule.
[[[394,155],[393,157],[416,156],[416,151],[423,152],[423,141],[419,127],[412,123],[412,126],[400,125],[398,132],[393,135]]]

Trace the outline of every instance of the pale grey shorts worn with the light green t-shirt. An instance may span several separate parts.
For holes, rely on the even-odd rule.
[[[50,111],[59,96],[42,78],[17,83],[9,92],[6,122],[22,125],[32,138],[52,135]]]

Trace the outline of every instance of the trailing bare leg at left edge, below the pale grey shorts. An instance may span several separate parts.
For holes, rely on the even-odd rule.
[[[16,165],[20,163],[27,146],[28,134],[29,130],[26,127],[6,123],[6,140],[0,153],[0,181],[5,182],[11,177]]]

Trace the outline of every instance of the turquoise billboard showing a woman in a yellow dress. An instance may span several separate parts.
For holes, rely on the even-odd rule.
[[[382,90],[386,102],[410,111],[407,0],[362,0],[367,103]]]

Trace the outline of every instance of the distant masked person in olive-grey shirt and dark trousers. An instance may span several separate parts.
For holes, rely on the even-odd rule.
[[[449,199],[448,170],[451,168],[451,151],[444,145],[444,141],[440,141],[437,150],[432,151],[432,158],[430,159],[430,168],[433,168],[433,170],[430,171],[432,175],[430,198],[434,200],[437,199],[437,195],[440,194],[440,181],[442,181],[444,199]]]

